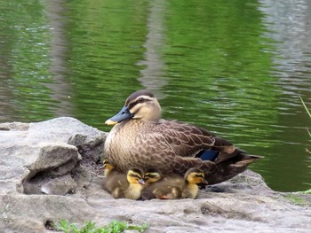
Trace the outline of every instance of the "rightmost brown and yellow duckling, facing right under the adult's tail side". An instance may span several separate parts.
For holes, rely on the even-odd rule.
[[[193,198],[198,195],[198,184],[208,184],[204,173],[198,168],[190,168],[184,177],[168,175],[157,183],[151,183],[141,194],[143,199],[178,199]]]

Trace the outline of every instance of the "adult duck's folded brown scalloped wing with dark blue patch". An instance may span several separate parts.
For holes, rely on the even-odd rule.
[[[210,131],[176,120],[160,120],[152,130],[145,132],[154,143],[164,141],[176,155],[184,158],[210,160],[219,164],[224,161],[235,163],[245,161],[245,166],[259,156],[250,156],[227,140]],[[150,143],[152,143],[152,139]],[[234,161],[232,161],[234,160]]]

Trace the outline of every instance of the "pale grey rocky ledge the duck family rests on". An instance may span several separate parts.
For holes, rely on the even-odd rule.
[[[148,223],[146,232],[310,232],[311,195],[270,190],[250,170],[195,200],[111,198],[100,185],[106,135],[67,117],[0,124],[1,232],[52,232],[62,219]]]

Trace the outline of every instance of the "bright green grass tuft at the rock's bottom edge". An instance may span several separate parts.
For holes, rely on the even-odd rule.
[[[53,224],[53,229],[59,230],[65,233],[119,233],[126,229],[134,229],[138,232],[144,232],[148,228],[146,223],[139,225],[130,225],[124,221],[111,221],[105,227],[97,227],[92,221],[86,221],[81,229],[76,227],[75,223],[70,223],[68,220],[61,220],[57,224]]]

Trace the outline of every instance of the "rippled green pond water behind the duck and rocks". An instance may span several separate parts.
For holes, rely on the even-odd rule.
[[[274,190],[311,186],[311,3],[0,3],[0,121],[73,116],[108,131],[132,91],[251,154]]]

